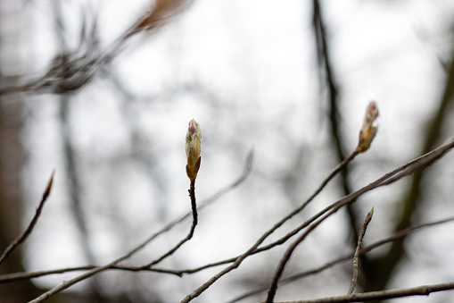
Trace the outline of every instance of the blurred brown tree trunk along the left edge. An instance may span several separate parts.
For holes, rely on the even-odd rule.
[[[20,1],[19,1],[20,2]],[[0,61],[0,78],[4,69],[14,67],[20,62],[20,33],[18,24],[21,13],[11,14],[13,4],[0,1],[0,52],[4,60]],[[10,66],[4,65],[6,63]],[[17,65],[16,65],[17,66]],[[7,85],[15,85],[16,80],[8,78]],[[24,151],[21,144],[23,124],[23,103],[19,94],[8,97],[0,96],[0,249],[3,252],[12,240],[22,231],[21,169],[24,162]],[[21,247],[0,265],[0,274],[21,272]],[[37,288],[30,281],[12,284],[0,284],[2,302],[26,302],[37,294]]]

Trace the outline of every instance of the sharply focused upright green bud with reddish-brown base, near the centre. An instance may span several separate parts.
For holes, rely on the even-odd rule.
[[[191,181],[195,181],[197,172],[199,172],[201,141],[202,131],[200,130],[199,123],[195,122],[193,119],[189,122],[186,134],[186,173]]]

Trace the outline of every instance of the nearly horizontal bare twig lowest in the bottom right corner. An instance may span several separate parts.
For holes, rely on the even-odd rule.
[[[443,290],[454,290],[454,282],[447,282],[433,285],[421,285],[417,287],[411,287],[407,289],[397,290],[381,290],[381,291],[370,291],[364,293],[355,293],[347,296],[340,297],[328,297],[322,299],[308,299],[299,301],[286,301],[276,303],[347,303],[347,302],[363,302],[372,301],[378,299],[394,299],[410,296],[428,296],[432,292],[443,291]]]

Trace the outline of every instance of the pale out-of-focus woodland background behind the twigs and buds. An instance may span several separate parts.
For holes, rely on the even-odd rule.
[[[185,136],[202,129],[194,238],[160,268],[243,253],[299,206],[358,144],[367,104],[380,126],[359,155],[278,239],[318,210],[453,136],[450,0],[0,0],[0,248],[28,225],[0,273],[104,265],[190,211]],[[248,155],[254,151],[252,163]],[[299,246],[284,278],[410,225],[454,215],[454,157],[376,189]],[[247,172],[246,172],[247,173]],[[183,239],[186,220],[128,259],[144,265]],[[454,281],[452,223],[417,231],[361,260],[359,290]],[[267,287],[288,244],[244,261],[194,302]],[[225,266],[225,265],[223,265]],[[223,267],[177,277],[109,271],[55,302],[177,302]],[[78,273],[0,285],[22,302]],[[295,280],[277,300],[347,292],[351,261]],[[450,302],[452,292],[399,302]],[[265,299],[258,292],[241,300]],[[391,300],[392,301],[392,300]]]

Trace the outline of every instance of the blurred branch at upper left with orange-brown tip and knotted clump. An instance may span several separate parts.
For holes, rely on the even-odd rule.
[[[17,92],[55,93],[62,94],[83,88],[95,76],[95,73],[105,64],[110,63],[128,40],[142,32],[154,32],[166,24],[172,17],[192,4],[192,0],[156,0],[150,10],[115,40],[111,46],[101,54],[97,52],[97,43],[94,40],[95,24],[92,30],[84,32],[82,41],[87,42],[87,48],[79,47],[75,51],[65,51],[54,57],[45,75],[37,80],[29,80],[17,86],[10,86],[4,81],[0,83],[0,95]],[[15,76],[17,77],[17,76]],[[23,76],[21,78],[24,78]]]

